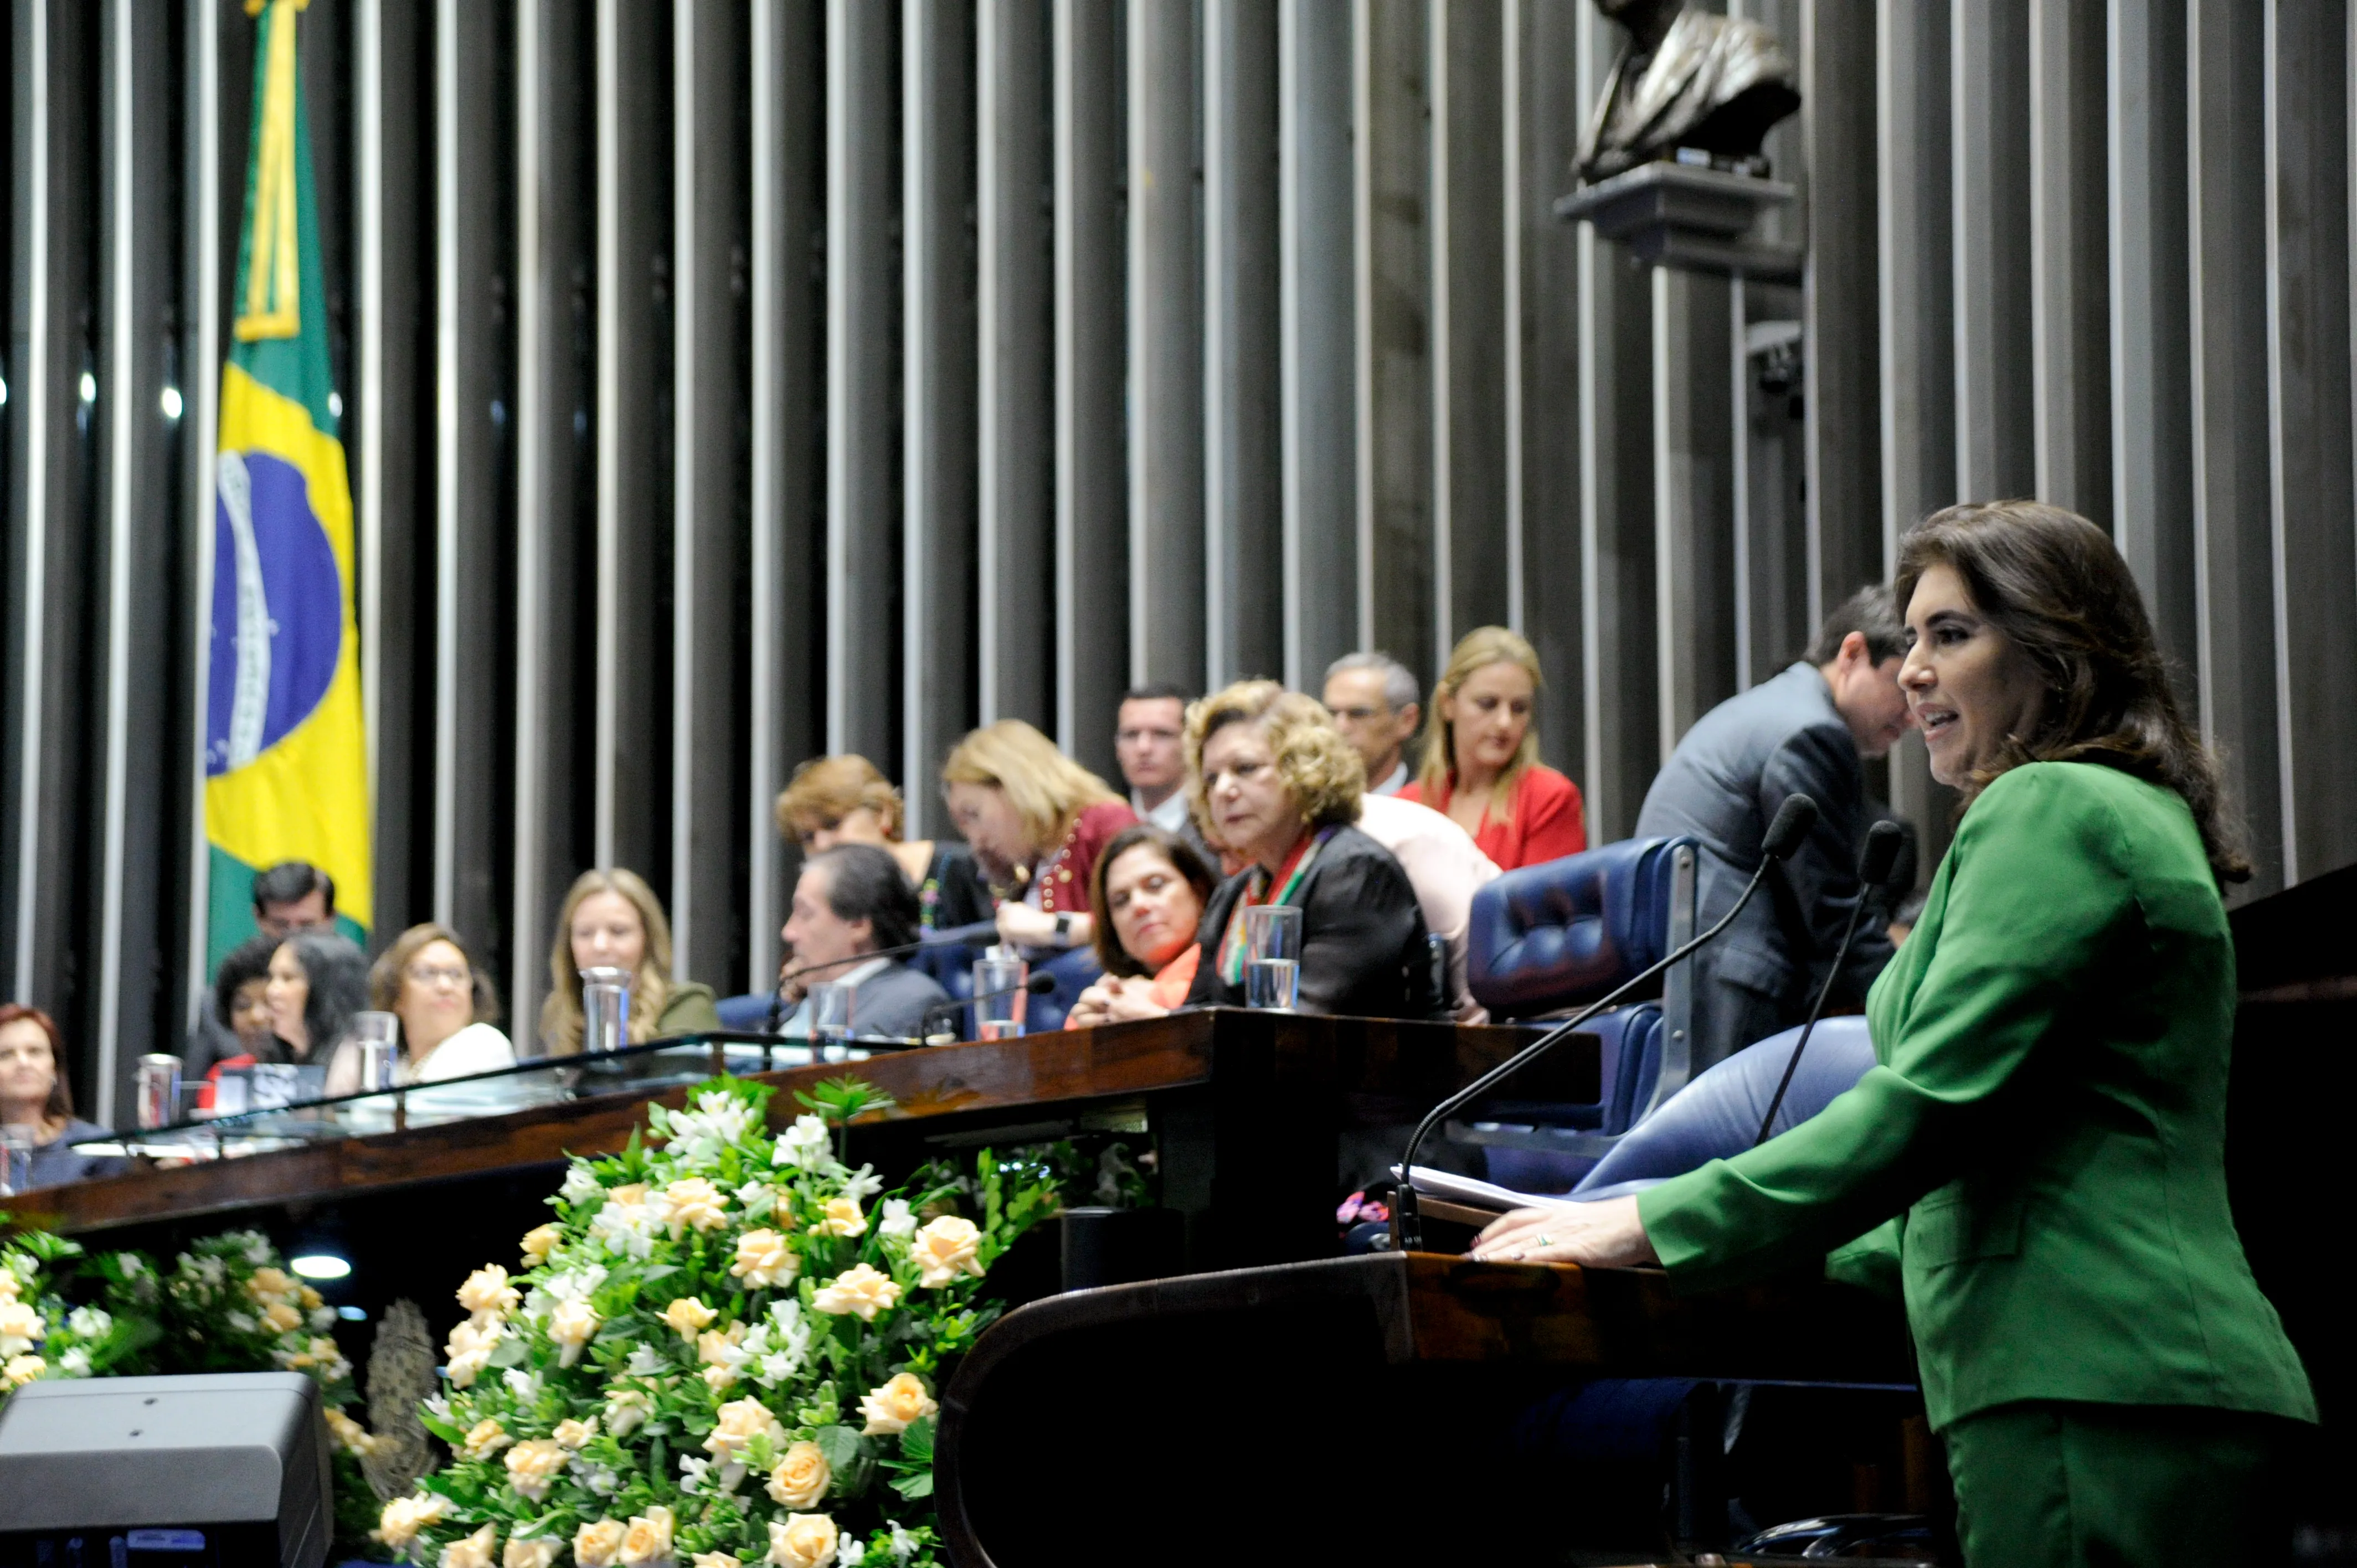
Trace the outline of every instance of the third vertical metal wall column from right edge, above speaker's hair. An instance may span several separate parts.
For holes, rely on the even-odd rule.
[[[2192,698],[2194,472],[2183,5],[2112,0],[2112,538]]]

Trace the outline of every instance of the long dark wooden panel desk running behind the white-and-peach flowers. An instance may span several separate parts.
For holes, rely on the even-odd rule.
[[[1527,1033],[1376,1019],[1193,1012],[983,1045],[872,1056],[759,1075],[794,1089],[856,1073],[898,1106],[853,1129],[853,1158],[886,1177],[943,1148],[1021,1144],[1084,1127],[1160,1146],[1164,1203],[1186,1212],[1190,1266],[1322,1257],[1334,1247],[1332,1188],[1343,1139],[1388,1129],[1487,1070]],[[1556,1092],[1596,1094],[1593,1042],[1551,1063]],[[243,1160],[148,1170],[31,1193],[9,1207],[92,1245],[172,1247],[229,1224],[273,1231],[337,1224],[356,1264],[379,1233],[424,1259],[420,1217],[476,1261],[544,1217],[566,1153],[615,1153],[646,1103],[684,1089],[601,1094],[441,1127],[335,1139]],[[521,1224],[519,1224],[521,1221]],[[471,1266],[471,1264],[467,1264]],[[464,1271],[460,1271],[462,1278]],[[434,1287],[438,1294],[441,1287]],[[429,1304],[429,1311],[434,1306]]]

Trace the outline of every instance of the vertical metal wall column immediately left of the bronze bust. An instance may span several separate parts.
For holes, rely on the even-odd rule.
[[[1586,771],[1586,637],[1579,561],[1579,229],[1556,217],[1572,189],[1584,108],[1579,5],[1501,0],[1506,17],[1508,189],[1508,587],[1513,625],[1546,670],[1539,752]],[[1518,566],[1518,571],[1516,571]]]

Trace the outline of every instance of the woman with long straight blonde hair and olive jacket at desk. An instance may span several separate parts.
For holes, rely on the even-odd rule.
[[[556,910],[552,990],[540,1009],[540,1045],[549,1056],[582,1049],[582,969],[629,971],[629,1045],[721,1026],[709,986],[672,979],[672,922],[634,870],[585,870]]]

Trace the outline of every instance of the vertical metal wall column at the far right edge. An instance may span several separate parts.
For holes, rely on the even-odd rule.
[[[2267,422],[2284,882],[2357,861],[2348,38],[2343,5],[2267,5]]]

